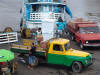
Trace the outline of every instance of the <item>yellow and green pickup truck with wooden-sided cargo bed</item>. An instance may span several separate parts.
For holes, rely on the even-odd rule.
[[[29,46],[12,45],[11,51],[28,54]],[[83,67],[92,64],[92,54],[71,49],[70,40],[62,38],[49,40],[46,49],[37,46],[36,58],[40,63],[44,61],[71,67],[74,72],[81,72]]]

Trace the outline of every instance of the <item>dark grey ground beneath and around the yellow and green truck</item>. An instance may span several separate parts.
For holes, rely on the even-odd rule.
[[[65,38],[67,38],[67,36]],[[22,41],[21,39],[19,40]],[[10,45],[11,44],[2,44],[0,45],[0,49],[10,50]],[[71,41],[71,47],[73,49],[81,50],[75,41]],[[67,69],[62,66],[49,64],[39,64],[37,67],[34,67],[33,71],[30,71],[27,68],[27,64],[22,62],[19,57],[17,57],[18,54],[15,54],[15,59],[17,60],[19,66],[14,75],[100,75],[100,48],[88,47],[84,51],[93,53],[95,61],[93,65],[85,68],[82,73],[73,73],[69,68]]]

